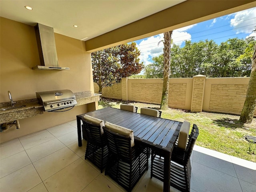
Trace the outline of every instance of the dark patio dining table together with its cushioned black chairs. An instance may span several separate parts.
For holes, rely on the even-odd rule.
[[[78,145],[83,137],[87,146],[85,159],[109,175],[128,192],[148,170],[150,177],[164,182],[164,191],[170,186],[190,191],[190,155],[198,137],[194,124],[158,118],[161,112],[123,104],[119,109],[103,108],[77,116]],[[105,122],[104,122],[105,121]],[[80,134],[79,134],[80,132]]]

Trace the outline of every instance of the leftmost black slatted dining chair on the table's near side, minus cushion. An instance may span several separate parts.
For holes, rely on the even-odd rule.
[[[102,173],[108,161],[106,134],[100,125],[82,119],[82,127],[86,132],[87,145],[84,159],[90,160]]]

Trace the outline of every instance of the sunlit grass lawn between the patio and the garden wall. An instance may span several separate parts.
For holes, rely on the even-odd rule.
[[[119,108],[120,104],[133,104],[138,107],[138,113],[142,107],[160,109],[160,105],[130,102],[102,98],[98,102],[99,109],[108,106]],[[199,128],[199,136],[196,145],[238,158],[256,162],[256,143],[248,142],[246,135],[256,136],[256,118],[251,124],[243,124],[237,115],[198,112],[190,113],[185,110],[168,108],[162,111],[161,118],[190,122],[192,128],[196,124]],[[234,122],[234,124],[230,123]]]

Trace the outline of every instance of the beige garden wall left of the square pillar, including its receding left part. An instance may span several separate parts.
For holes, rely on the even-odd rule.
[[[160,104],[162,79],[123,78],[120,84],[102,88],[102,96],[121,100]],[[193,78],[172,78],[169,82],[168,106],[190,110]],[[98,85],[94,83],[94,92]]]

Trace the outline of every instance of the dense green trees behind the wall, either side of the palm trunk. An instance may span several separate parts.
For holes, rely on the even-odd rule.
[[[250,57],[253,37],[232,38],[220,45],[213,40],[199,42],[186,41],[184,47],[172,45],[170,78],[193,77],[198,74],[207,77],[250,76]],[[154,57],[145,67],[146,78],[163,78],[163,56]]]

